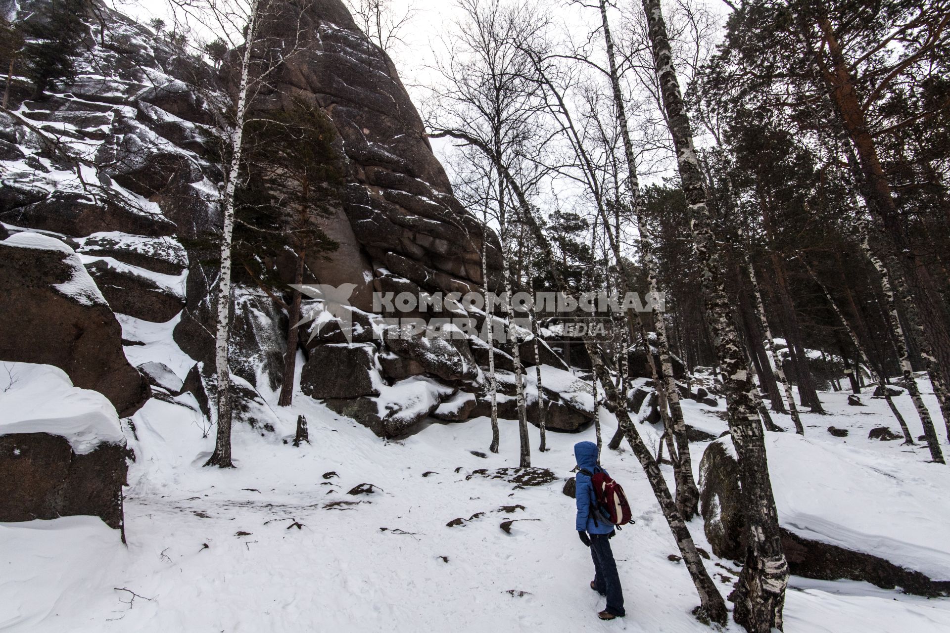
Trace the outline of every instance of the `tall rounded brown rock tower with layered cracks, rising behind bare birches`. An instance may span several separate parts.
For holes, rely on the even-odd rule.
[[[371,307],[379,266],[423,289],[475,289],[482,282],[481,227],[452,195],[395,66],[341,0],[304,7],[288,3],[294,19],[262,26],[264,37],[285,44],[294,40],[299,17],[305,46],[280,68],[274,91],[262,95],[258,107],[285,109],[294,99],[319,105],[350,161],[344,204],[350,231],[331,220],[344,251],[332,262],[313,262],[316,276],[334,286],[356,284],[352,304],[362,309]],[[491,260],[499,268],[494,246]]]

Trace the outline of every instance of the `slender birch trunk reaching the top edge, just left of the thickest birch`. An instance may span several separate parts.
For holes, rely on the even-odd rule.
[[[630,127],[627,121],[626,106],[623,102],[623,93],[620,89],[620,78],[617,69],[617,61],[614,53],[614,40],[610,33],[610,22],[607,19],[607,2],[600,0],[600,19],[603,26],[604,40],[607,47],[607,60],[610,68],[610,84],[613,91],[614,108],[617,111],[617,118],[620,127],[620,136],[623,140],[624,158],[627,163],[627,186],[630,188],[631,208],[637,216],[637,230],[639,232],[639,247],[641,265],[647,272],[649,281],[649,291],[651,303],[655,307],[654,311],[654,331],[656,333],[656,349],[659,352],[661,368],[654,372],[654,382],[657,388],[657,394],[662,388],[666,391],[664,394],[665,403],[669,406],[670,416],[672,418],[671,441],[675,439],[676,452],[671,452],[671,459],[675,464],[676,479],[676,505],[679,512],[687,520],[693,518],[696,508],[699,505],[699,489],[696,487],[693,479],[693,461],[690,456],[690,442],[686,437],[686,423],[683,420],[683,410],[679,403],[679,391],[676,388],[676,379],[673,374],[673,362],[670,354],[670,344],[667,338],[666,323],[663,319],[663,313],[656,310],[659,305],[658,281],[656,278],[656,261],[653,253],[650,251],[650,240],[646,231],[646,223],[643,219],[643,209],[640,203],[639,179],[637,178],[637,161],[634,156],[634,144],[630,136]],[[606,220],[606,218],[604,218]],[[617,247],[618,240],[612,239],[611,244]],[[622,270],[622,259],[618,248],[615,248],[615,259],[617,260],[618,270]],[[630,291],[625,288],[625,291]],[[639,315],[637,315],[639,319]],[[645,352],[653,364],[653,354],[650,352],[650,346],[644,341]],[[658,375],[657,375],[658,374]],[[661,381],[665,382],[661,385]],[[624,398],[624,400],[626,400]]]

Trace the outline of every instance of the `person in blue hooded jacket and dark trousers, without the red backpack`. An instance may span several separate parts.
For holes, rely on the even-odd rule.
[[[623,610],[623,589],[617,573],[614,552],[610,549],[610,539],[614,536],[614,526],[596,512],[597,497],[591,475],[606,473],[600,468],[597,444],[578,442],[574,445],[574,457],[578,461],[576,498],[578,502],[577,530],[580,542],[591,549],[594,559],[594,580],[591,588],[601,596],[607,596],[607,606],[598,613],[601,620],[613,620],[626,615]]]

